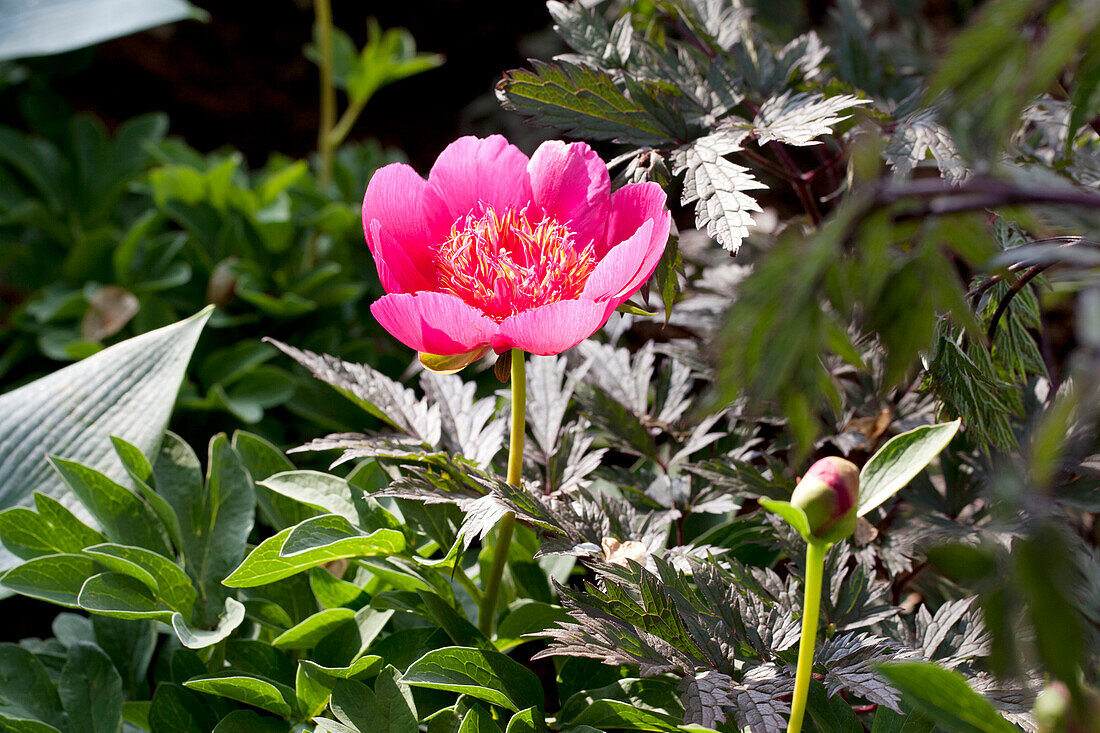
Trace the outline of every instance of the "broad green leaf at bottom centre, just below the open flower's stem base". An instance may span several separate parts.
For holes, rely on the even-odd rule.
[[[498,652],[452,646],[413,663],[404,681],[469,694],[513,712],[542,705],[542,683],[526,667]]]

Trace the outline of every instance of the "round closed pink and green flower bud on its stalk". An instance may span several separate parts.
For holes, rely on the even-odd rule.
[[[791,494],[791,504],[806,513],[810,533],[829,543],[844,539],[856,528],[859,469],[849,460],[829,456],[806,471]]]

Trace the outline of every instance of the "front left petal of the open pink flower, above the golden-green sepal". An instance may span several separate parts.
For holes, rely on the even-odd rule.
[[[371,313],[408,348],[439,355],[486,344],[497,331],[477,308],[446,293],[384,295],[371,305]]]

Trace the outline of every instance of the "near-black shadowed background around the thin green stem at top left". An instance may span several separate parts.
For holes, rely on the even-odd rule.
[[[182,21],[103,43],[88,54],[84,68],[55,77],[55,88],[109,127],[165,111],[172,133],[190,145],[200,151],[231,145],[253,165],[274,152],[301,157],[315,150],[318,69],[302,55],[311,37],[312,3],[195,4],[210,13],[208,23]],[[402,147],[421,171],[458,134],[503,132],[518,124],[499,110],[493,85],[527,56],[561,51],[540,0],[333,0],[332,12],[336,25],[359,46],[367,18],[374,17],[383,29],[408,29],[418,51],[446,56],[441,67],[382,89],[350,135]]]

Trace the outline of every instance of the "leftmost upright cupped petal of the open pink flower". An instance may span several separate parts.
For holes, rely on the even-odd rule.
[[[428,182],[404,163],[391,163],[380,168],[372,177],[363,196],[363,232],[371,254],[378,259],[378,241],[372,231],[372,221],[377,221],[418,266],[431,261],[431,248],[436,243],[425,216],[425,195]]]

